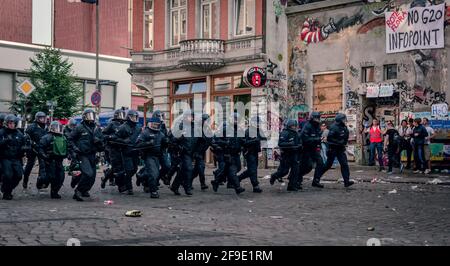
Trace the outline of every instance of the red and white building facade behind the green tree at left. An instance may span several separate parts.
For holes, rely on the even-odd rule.
[[[80,105],[91,107],[95,91],[96,8],[68,0],[0,0],[0,112],[15,100],[28,77],[29,59],[45,47],[61,49],[84,89]],[[99,2],[102,111],[131,106],[127,68],[132,48],[131,0]],[[49,99],[51,100],[51,99]]]

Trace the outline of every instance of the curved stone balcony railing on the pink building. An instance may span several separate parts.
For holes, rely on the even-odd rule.
[[[193,39],[180,42],[178,66],[190,71],[209,72],[225,66],[225,42]]]

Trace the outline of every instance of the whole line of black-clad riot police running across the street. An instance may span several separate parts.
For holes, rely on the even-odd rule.
[[[109,181],[111,186],[118,187],[120,193],[133,195],[133,177],[136,176],[136,184],[142,185],[150,198],[160,197],[160,180],[175,195],[181,195],[179,189],[182,187],[185,194],[191,196],[192,183],[197,177],[201,190],[208,189],[205,168],[209,149],[216,161],[211,181],[214,192],[226,183],[227,188],[239,195],[245,191],[241,182],[249,178],[253,192],[262,193],[258,180],[258,159],[267,138],[259,116],[251,117],[248,127],[244,128],[241,127],[240,116],[235,113],[217,130],[212,129],[209,115],[190,111],[175,119],[170,130],[164,124],[163,113],[158,110],[144,128],[140,126],[139,114],[135,110],[116,110],[103,129],[98,126],[97,119],[93,110],[86,109],[81,123],[70,119],[68,125],[63,127],[54,121],[46,128],[46,115],[38,112],[23,134],[18,129],[19,119],[16,116],[0,115],[0,183],[3,199],[13,198],[13,190],[22,178],[24,188],[27,187],[37,158],[38,189],[49,187],[50,197],[60,199],[59,191],[65,179],[63,162],[68,159],[73,199],[84,201],[90,197],[89,191],[95,183],[98,169],[96,156],[99,154],[104,154],[108,166],[101,177],[102,189]],[[275,173],[267,177],[271,185],[276,181],[284,182],[283,178],[287,176],[287,190],[299,191],[303,176],[315,165],[312,186],[323,188],[320,178],[331,168],[335,158],[341,165],[344,186],[354,184],[350,181],[345,154],[349,136],[346,116],[338,114],[329,130],[326,163],[320,155],[319,119],[320,114],[313,112],[301,129],[297,120],[290,119],[284,123],[278,140],[280,165]],[[25,155],[27,165],[23,168]],[[246,162],[245,169],[242,169],[242,158]],[[172,180],[173,176],[175,178]]]

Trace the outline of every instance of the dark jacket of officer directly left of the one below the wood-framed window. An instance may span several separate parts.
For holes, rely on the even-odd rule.
[[[141,128],[131,121],[126,121],[114,133],[114,141],[121,146],[122,151],[127,156],[134,156],[134,151],[139,134],[141,134]]]

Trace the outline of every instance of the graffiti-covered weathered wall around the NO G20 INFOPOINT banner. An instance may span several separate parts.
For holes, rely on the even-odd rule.
[[[315,1],[320,2],[314,3],[315,9],[311,5],[308,8],[307,2],[293,1],[290,8],[296,7],[295,12],[289,12],[289,8],[287,12],[288,93],[295,105],[313,109],[313,103],[317,102],[314,76],[342,71],[342,110],[352,117],[350,124],[355,138],[352,149],[358,161],[364,159],[365,139],[360,131],[373,117],[398,123],[400,118],[419,112],[431,115],[433,105],[450,102],[447,6],[445,48],[386,53],[386,12],[406,14],[403,11],[445,1],[365,0],[332,7],[334,1]],[[447,2],[450,6],[450,1]],[[305,7],[304,11],[299,6]],[[393,23],[398,24],[400,19],[401,16],[396,17]],[[412,41],[414,35],[410,37]],[[374,88],[377,93],[387,90],[391,94],[370,98]],[[440,134],[444,138],[448,138],[447,123],[441,123]]]

